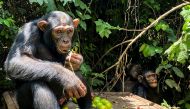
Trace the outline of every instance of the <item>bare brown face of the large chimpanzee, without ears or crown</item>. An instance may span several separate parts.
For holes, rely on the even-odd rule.
[[[68,24],[62,24],[52,29],[52,39],[56,44],[57,52],[62,54],[69,51],[73,33],[73,25]]]

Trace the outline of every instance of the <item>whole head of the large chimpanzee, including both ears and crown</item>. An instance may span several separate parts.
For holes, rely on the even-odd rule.
[[[57,52],[60,54],[68,53],[70,50],[74,28],[76,28],[78,24],[79,19],[72,20],[68,14],[58,11],[51,13],[48,19],[41,20],[37,23],[40,30],[45,33],[43,36],[44,40],[48,40],[47,37],[50,37]],[[45,42],[48,43],[48,41]]]

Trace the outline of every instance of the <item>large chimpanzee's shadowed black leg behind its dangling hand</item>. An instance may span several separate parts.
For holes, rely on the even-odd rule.
[[[87,88],[87,94],[84,97],[77,99],[78,105],[79,105],[80,109],[91,109],[92,96],[91,96],[90,87],[87,85],[87,83],[86,83],[85,79],[83,78],[80,71],[75,72],[75,74],[82,80],[82,82],[84,83],[84,85]]]

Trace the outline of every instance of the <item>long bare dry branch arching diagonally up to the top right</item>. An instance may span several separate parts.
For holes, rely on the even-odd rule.
[[[147,30],[149,30],[150,28],[152,28],[156,23],[158,23],[158,21],[162,20],[164,17],[166,17],[167,15],[169,15],[170,13],[172,13],[173,11],[175,11],[175,10],[177,10],[177,9],[179,9],[179,8],[181,8],[181,7],[183,7],[183,6],[185,6],[185,5],[189,5],[189,4],[190,4],[190,2],[182,3],[182,4],[180,4],[180,5],[178,5],[178,6],[174,7],[174,8],[172,8],[171,10],[167,11],[166,13],[162,14],[162,15],[161,15],[160,17],[158,17],[155,21],[153,21],[149,26],[147,26],[140,34],[138,34],[138,35],[129,43],[129,45],[127,46],[127,48],[124,50],[124,52],[122,53],[122,55],[119,57],[118,61],[117,61],[115,64],[113,64],[111,67],[109,67],[109,68],[107,68],[105,71],[103,71],[103,73],[109,71],[110,69],[112,69],[112,68],[115,67],[115,66],[117,66],[116,69],[118,69],[122,58],[126,55],[127,50],[131,47],[131,45],[132,45],[137,39],[139,39]],[[116,71],[116,72],[118,72],[118,71]],[[120,76],[118,76],[118,78],[119,78],[119,77],[120,77]],[[118,80],[118,78],[117,78],[117,80]],[[115,80],[115,78],[113,78],[113,79],[110,81],[110,83],[111,83],[113,80]],[[106,84],[106,85],[103,87],[103,89],[104,89],[105,87],[107,87],[108,85],[109,85],[109,84]],[[103,90],[103,89],[102,89],[102,90]]]

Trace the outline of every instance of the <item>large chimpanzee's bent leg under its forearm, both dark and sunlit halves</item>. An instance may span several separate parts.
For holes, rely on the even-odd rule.
[[[17,91],[19,109],[60,109],[56,97],[42,82],[29,82]]]

